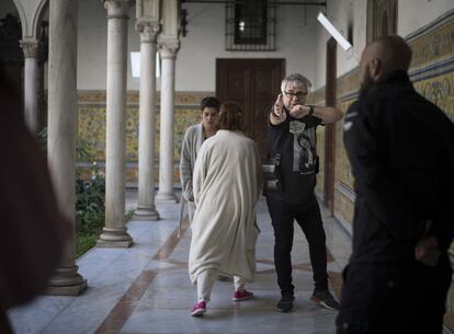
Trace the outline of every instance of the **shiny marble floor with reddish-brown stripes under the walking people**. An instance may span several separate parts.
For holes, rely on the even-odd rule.
[[[127,206],[134,207],[128,193]],[[295,229],[293,250],[296,308],[291,313],[274,310],[280,298],[273,266],[273,232],[266,205],[259,203],[262,230],[257,244],[257,279],[248,285],[256,298],[231,301],[232,284],[216,281],[208,311],[193,318],[190,310],[196,289],[188,276],[191,230],[184,223],[178,238],[178,204],[159,204],[159,221],[133,220],[127,224],[134,245],[129,249],[94,247],[77,264],[88,280],[79,297],[39,297],[10,311],[16,334],[329,334],[334,333],[336,311],[309,300],[313,273],[308,245]],[[350,254],[351,238],[340,224],[324,215],[327,231],[330,288],[339,296],[340,272]]]

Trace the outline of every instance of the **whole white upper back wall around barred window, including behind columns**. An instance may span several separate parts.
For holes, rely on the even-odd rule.
[[[185,3],[188,35],[181,39],[177,55],[177,91],[215,91],[216,58],[285,58],[286,73],[302,72],[310,80],[316,77],[317,55],[314,27],[320,8],[279,7],[276,12],[276,51],[225,50],[225,5]],[[135,31],[134,8],[128,21],[128,53],[140,49]],[[106,85],[106,11],[101,1],[79,0],[78,89],[105,90]],[[159,88],[159,82],[158,82]],[[139,80],[130,76],[128,57],[128,90],[138,90]]]

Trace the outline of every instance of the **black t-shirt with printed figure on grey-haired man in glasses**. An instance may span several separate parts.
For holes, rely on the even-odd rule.
[[[266,196],[288,204],[304,204],[314,198],[318,172],[317,126],[321,119],[315,116],[294,118],[288,115],[280,125],[269,122],[269,157],[281,152],[282,189]]]

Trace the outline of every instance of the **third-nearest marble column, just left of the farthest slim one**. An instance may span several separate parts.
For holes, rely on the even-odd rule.
[[[139,106],[139,159],[138,219],[158,220],[155,207],[155,119],[156,119],[156,36],[159,23],[138,22],[140,32],[140,106]]]

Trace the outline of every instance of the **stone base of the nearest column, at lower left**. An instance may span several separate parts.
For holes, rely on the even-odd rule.
[[[49,296],[79,296],[87,289],[87,279],[77,273],[78,266],[57,268],[50,278],[45,295]]]

